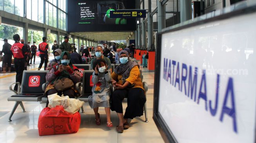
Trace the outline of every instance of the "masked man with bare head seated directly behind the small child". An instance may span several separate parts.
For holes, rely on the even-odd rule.
[[[103,55],[102,46],[97,46],[95,48],[95,55],[96,55],[96,57],[94,56],[94,58],[91,60],[91,69],[93,69],[94,62],[96,62],[97,59],[103,59],[107,63],[107,69],[110,70],[112,73],[111,61],[109,60],[108,57],[105,57]]]

